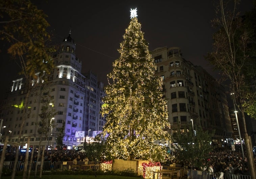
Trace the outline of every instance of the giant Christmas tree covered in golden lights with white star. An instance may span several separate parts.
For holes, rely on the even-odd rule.
[[[164,131],[170,127],[167,101],[162,97],[161,77],[154,76],[156,65],[136,16],[136,9],[131,9],[120,57],[108,74],[112,83],[105,88],[102,106],[102,115],[107,114],[103,133],[108,135],[104,155],[162,161],[167,150],[153,142],[170,140]]]

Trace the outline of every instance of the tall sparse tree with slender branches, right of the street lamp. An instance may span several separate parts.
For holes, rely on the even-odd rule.
[[[253,73],[250,73],[254,68],[251,40],[249,30],[244,28],[243,18],[237,12],[239,0],[230,2],[219,0],[216,5],[217,17],[212,20],[212,25],[219,29],[213,34],[213,49],[207,59],[221,71],[222,76],[227,79],[230,93],[234,94],[235,106],[242,116],[249,170],[251,177],[255,179],[251,141],[247,134],[244,114],[256,101],[255,81],[251,80]]]

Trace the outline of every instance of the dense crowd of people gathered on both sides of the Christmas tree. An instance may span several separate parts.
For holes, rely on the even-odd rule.
[[[38,161],[41,161],[42,153],[39,155]],[[246,155],[245,155],[246,156]],[[32,161],[37,160],[37,152],[34,152],[33,156],[31,153],[29,155],[29,161],[32,157]],[[25,152],[19,153],[19,161],[24,161]],[[9,150],[6,152],[5,161],[14,161],[15,160],[15,152],[14,150]],[[44,161],[73,161],[74,165],[76,165],[79,161],[89,161],[88,157],[85,156],[84,152],[75,152],[75,150],[45,150],[44,153]],[[256,156],[254,156],[254,163],[256,165]],[[176,164],[187,166],[188,169],[193,170],[201,170],[208,171],[211,173],[219,173],[225,175],[226,177],[229,174],[240,174],[240,175],[250,175],[248,169],[248,161],[247,158],[242,158],[242,153],[240,150],[232,151],[229,148],[222,147],[214,149],[210,154],[209,158],[206,161],[203,161],[203,165],[201,167],[190,167],[189,163],[184,163],[178,161],[176,158],[168,161],[168,164]]]

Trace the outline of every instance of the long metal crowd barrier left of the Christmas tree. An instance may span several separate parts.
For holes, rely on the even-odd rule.
[[[93,161],[44,161],[43,162],[43,171],[63,171],[63,170],[88,170],[92,169],[94,165],[100,165],[101,162]],[[28,162],[29,169],[30,162]],[[14,161],[4,161],[3,167],[8,168],[9,170],[14,170]],[[31,162],[31,171],[35,171],[36,161]],[[41,168],[41,161],[37,162],[37,171]],[[18,161],[16,171],[23,171],[24,162]]]

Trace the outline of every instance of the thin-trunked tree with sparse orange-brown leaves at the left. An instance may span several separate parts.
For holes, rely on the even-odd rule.
[[[24,123],[27,119],[27,100],[31,92],[31,80],[39,83],[54,68],[51,52],[54,48],[47,46],[50,35],[46,15],[29,0],[0,0],[1,29],[0,38],[9,44],[7,52],[17,59],[21,73],[25,77],[26,98],[23,106],[22,124],[18,138],[20,145]],[[39,74],[39,75],[36,75]],[[14,169],[18,163],[19,148],[16,149]],[[15,178],[16,171],[11,178]]]

